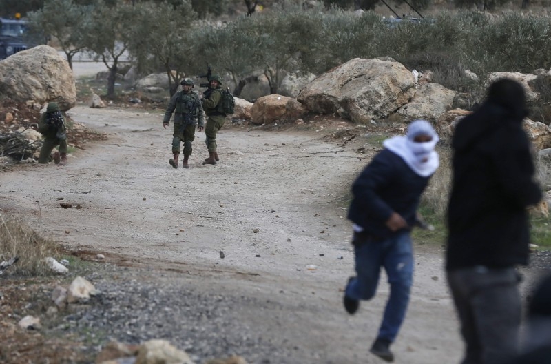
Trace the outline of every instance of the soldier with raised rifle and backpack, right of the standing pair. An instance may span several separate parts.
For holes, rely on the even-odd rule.
[[[205,143],[209,150],[209,158],[205,159],[203,164],[216,164],[220,161],[216,152],[216,133],[226,121],[226,114],[221,108],[222,101],[222,77],[218,74],[213,74],[209,79],[210,87],[204,92],[205,97],[202,99],[205,114],[207,114],[207,128],[205,128]]]

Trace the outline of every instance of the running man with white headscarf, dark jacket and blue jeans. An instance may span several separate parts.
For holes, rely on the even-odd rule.
[[[352,186],[349,219],[357,276],[344,293],[344,308],[354,314],[360,300],[372,299],[384,267],[391,285],[383,320],[371,353],[393,361],[395,341],[408,307],[413,280],[410,232],[419,224],[417,208],[430,176],[439,165],[435,152],[438,135],[428,121],[416,120],[406,136],[384,141],[384,150],[357,177]]]

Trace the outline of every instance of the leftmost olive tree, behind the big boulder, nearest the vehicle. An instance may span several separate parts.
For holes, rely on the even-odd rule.
[[[56,38],[72,69],[74,55],[85,48],[90,12],[91,6],[78,5],[72,0],[47,1],[40,10],[27,14],[30,33],[34,37]]]

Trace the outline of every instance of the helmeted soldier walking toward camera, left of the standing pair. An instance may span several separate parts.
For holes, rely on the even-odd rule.
[[[170,117],[174,112],[174,134],[172,134],[172,154],[169,160],[172,167],[178,168],[178,156],[180,155],[180,142],[184,142],[183,168],[189,168],[188,159],[193,152],[191,142],[195,139],[196,121],[201,132],[205,125],[205,112],[202,110],[199,94],[191,90],[194,81],[183,79],[180,82],[182,90],[176,92],[170,99],[170,103],[163,119],[163,128],[169,125]]]

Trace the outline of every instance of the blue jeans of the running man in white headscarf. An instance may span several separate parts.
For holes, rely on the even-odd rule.
[[[357,276],[346,287],[346,296],[357,300],[372,299],[377,291],[381,267],[384,267],[391,294],[386,302],[377,338],[393,342],[406,316],[413,282],[413,253],[409,232],[401,232],[380,241],[375,241],[365,233],[355,233],[353,244]]]

